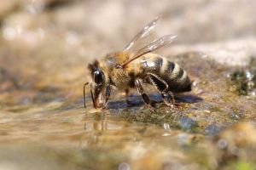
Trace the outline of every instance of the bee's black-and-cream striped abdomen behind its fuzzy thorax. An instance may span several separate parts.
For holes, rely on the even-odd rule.
[[[148,54],[140,59],[144,73],[152,73],[168,84],[168,91],[186,92],[191,90],[189,77],[176,63],[157,54]]]

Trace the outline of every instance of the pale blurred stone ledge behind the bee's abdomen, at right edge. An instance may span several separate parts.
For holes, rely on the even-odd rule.
[[[230,66],[246,66],[256,51],[256,39],[253,37],[234,40],[197,43],[193,45],[175,46],[174,54],[182,51],[194,51],[201,54],[202,58],[214,59],[216,62]]]

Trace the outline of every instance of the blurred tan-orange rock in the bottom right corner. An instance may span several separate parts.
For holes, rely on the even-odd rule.
[[[253,133],[256,133],[256,128],[252,122],[237,123],[219,133],[214,138],[214,144],[220,150],[218,161],[229,164],[242,160],[248,165],[255,164],[256,138]]]

